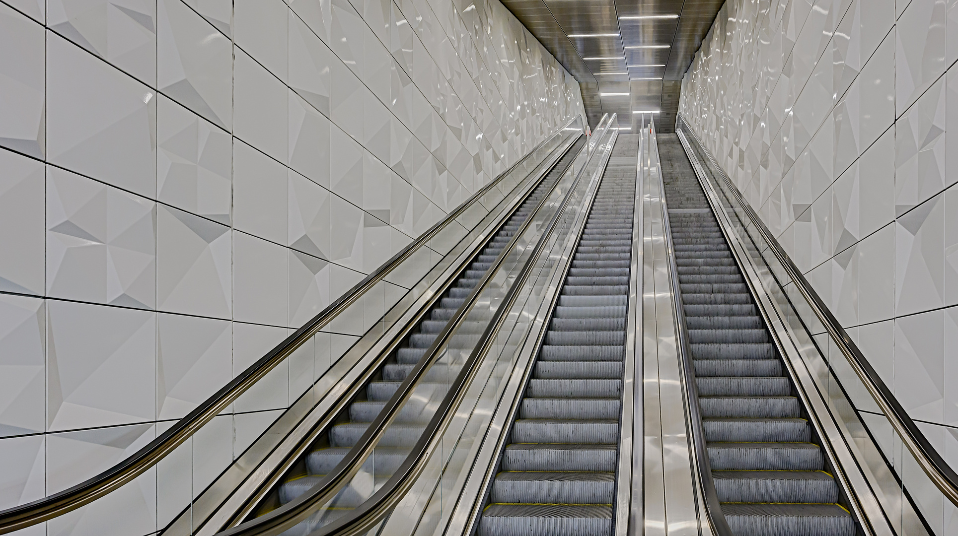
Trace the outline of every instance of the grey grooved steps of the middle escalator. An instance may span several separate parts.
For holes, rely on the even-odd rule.
[[[638,138],[612,148],[479,536],[605,536],[619,442]]]

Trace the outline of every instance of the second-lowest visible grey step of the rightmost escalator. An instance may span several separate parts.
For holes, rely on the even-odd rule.
[[[836,503],[838,485],[824,471],[716,471],[721,503]]]

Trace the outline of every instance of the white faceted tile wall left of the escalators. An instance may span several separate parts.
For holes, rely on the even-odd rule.
[[[0,508],[134,452],[583,113],[498,0],[2,0],[0,51]],[[162,527],[352,340],[214,419],[208,475],[51,533]]]

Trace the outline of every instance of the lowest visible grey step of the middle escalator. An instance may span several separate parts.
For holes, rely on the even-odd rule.
[[[611,504],[490,504],[480,536],[608,536]]]

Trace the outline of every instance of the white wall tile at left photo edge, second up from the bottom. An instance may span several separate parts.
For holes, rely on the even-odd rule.
[[[0,295],[0,436],[44,430],[44,322],[39,298]]]

